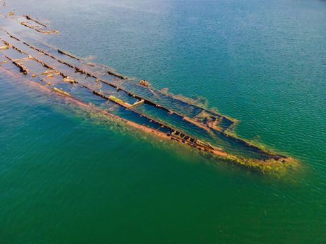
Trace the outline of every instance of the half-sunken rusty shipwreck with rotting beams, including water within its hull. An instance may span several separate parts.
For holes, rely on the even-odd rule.
[[[29,15],[10,12],[1,20],[1,73],[22,73],[23,81],[33,80],[76,105],[91,107],[134,128],[188,144],[237,165],[269,171],[295,162],[237,137],[232,132],[236,119],[205,109],[190,99],[151,89],[145,79],[130,79],[41,43],[33,34],[59,31]]]

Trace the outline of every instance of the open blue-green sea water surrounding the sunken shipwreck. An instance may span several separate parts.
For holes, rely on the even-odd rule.
[[[47,43],[207,98],[301,164],[232,167],[0,74],[0,243],[326,242],[325,1],[6,3],[51,20]]]

